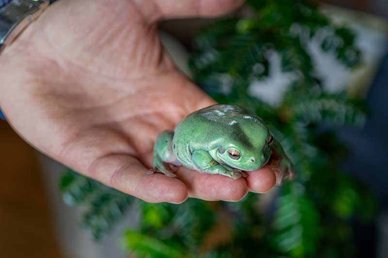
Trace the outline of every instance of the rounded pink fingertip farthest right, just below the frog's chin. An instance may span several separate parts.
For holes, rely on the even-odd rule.
[[[275,172],[268,166],[249,171],[247,174],[245,180],[250,192],[265,193],[276,184]]]

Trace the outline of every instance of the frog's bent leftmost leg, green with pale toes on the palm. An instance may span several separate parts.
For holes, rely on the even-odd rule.
[[[154,145],[154,158],[153,158],[153,169],[152,172],[162,172],[168,177],[176,177],[173,171],[165,165],[165,163],[177,163],[177,158],[174,155],[172,142],[174,132],[163,131],[158,135]]]

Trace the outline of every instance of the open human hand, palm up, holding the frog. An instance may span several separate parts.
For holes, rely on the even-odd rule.
[[[179,167],[147,175],[159,132],[214,104],[178,73],[157,21],[220,15],[236,0],[60,0],[0,55],[0,105],[41,152],[148,202],[239,200],[276,182],[269,167],[233,180]]]

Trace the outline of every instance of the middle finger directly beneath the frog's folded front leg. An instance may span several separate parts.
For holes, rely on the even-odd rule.
[[[243,178],[232,179],[222,175],[200,173],[185,167],[179,167],[178,179],[185,183],[189,197],[217,201],[238,201],[248,192]]]

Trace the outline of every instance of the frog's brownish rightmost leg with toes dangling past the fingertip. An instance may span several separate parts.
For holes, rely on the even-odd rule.
[[[276,177],[276,185],[281,185],[283,183],[284,178],[289,173],[289,179],[293,180],[296,176],[296,171],[290,158],[286,155],[283,150],[283,147],[280,143],[274,139],[274,143],[272,144],[272,157],[269,166],[277,171]]]

